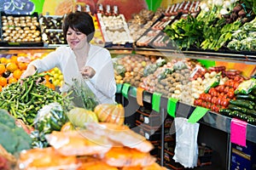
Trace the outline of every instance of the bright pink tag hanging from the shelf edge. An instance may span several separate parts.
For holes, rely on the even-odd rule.
[[[230,141],[234,144],[246,146],[247,122],[232,118],[230,122]]]

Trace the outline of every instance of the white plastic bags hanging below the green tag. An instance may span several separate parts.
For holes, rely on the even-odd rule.
[[[175,117],[176,147],[173,159],[184,167],[196,167],[198,159],[197,134],[199,123],[190,123],[187,118]]]

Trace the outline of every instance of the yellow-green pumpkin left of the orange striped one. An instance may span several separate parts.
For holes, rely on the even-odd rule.
[[[67,117],[74,127],[84,127],[85,122],[98,122],[98,118],[94,111],[89,111],[80,107],[74,107],[72,110],[68,111]]]

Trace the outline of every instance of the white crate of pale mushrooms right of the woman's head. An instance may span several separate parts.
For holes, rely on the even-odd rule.
[[[124,15],[112,13],[111,7],[109,5],[107,7],[105,12],[96,14],[105,43],[111,43],[112,45],[131,44],[133,39]],[[117,6],[115,7],[118,8]]]

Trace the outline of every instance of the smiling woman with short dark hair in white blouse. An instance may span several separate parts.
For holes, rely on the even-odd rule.
[[[95,32],[90,14],[79,11],[67,14],[62,28],[68,47],[56,48],[44,59],[33,60],[21,78],[57,67],[65,82],[61,92],[67,91],[67,84],[72,84],[73,78],[82,77],[99,103],[113,104],[116,92],[113,62],[106,48],[90,44]]]

